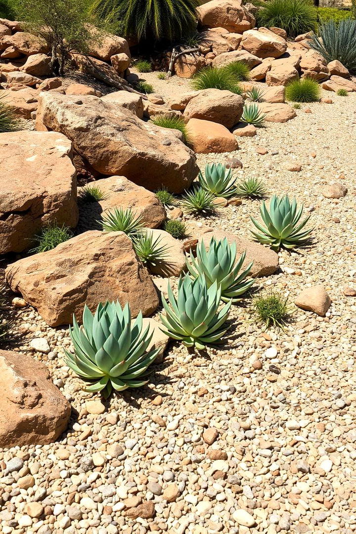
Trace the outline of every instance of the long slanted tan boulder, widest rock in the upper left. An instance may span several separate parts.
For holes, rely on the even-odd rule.
[[[112,102],[43,92],[37,120],[64,133],[101,174],[126,176],[152,191],[163,185],[173,193],[187,189],[197,175],[195,154],[174,132]]]

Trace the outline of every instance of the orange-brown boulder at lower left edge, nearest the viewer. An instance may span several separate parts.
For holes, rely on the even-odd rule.
[[[0,350],[0,376],[0,447],[45,445],[66,430],[70,405],[44,364]]]

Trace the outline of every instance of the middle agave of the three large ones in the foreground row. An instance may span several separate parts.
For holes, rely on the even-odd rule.
[[[178,281],[178,297],[173,295],[168,283],[168,302],[162,294],[165,315],[160,319],[162,331],[172,339],[180,340],[186,347],[204,350],[209,345],[221,343],[227,332],[225,325],[231,301],[219,310],[221,289],[215,281],[209,288],[204,278],[185,276]]]

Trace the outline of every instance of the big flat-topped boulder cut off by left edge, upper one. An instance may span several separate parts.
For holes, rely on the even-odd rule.
[[[33,247],[45,225],[76,226],[72,143],[61,133],[0,133],[0,182],[0,254]]]

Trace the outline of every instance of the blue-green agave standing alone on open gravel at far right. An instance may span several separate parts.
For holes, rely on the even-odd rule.
[[[303,227],[310,218],[310,215],[308,215],[304,221],[299,223],[303,208],[302,204],[297,210],[296,199],[290,202],[288,195],[282,198],[273,195],[269,212],[263,201],[259,211],[265,226],[262,226],[254,217],[251,217],[252,223],[261,232],[251,231],[255,240],[265,245],[271,245],[273,250],[279,250],[281,247],[291,249],[298,245],[303,245],[313,231],[310,229],[302,232]]]

